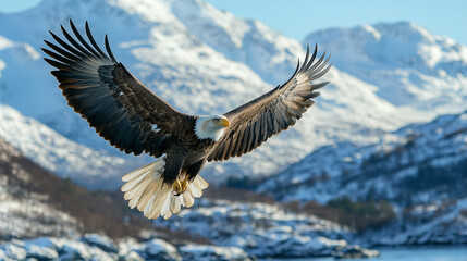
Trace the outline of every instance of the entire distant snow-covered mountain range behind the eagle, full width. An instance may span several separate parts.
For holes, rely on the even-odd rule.
[[[410,23],[322,30],[299,42],[201,0],[44,0],[25,12],[0,14],[0,102],[54,129],[51,139],[63,136],[66,150],[57,157],[54,146],[34,137],[34,124],[17,128],[29,134],[10,132],[5,138],[35,162],[91,188],[118,187],[123,173],[149,158],[110,147],[61,97],[39,48],[51,38],[47,30],[59,34],[69,18],[81,29],[88,21],[100,44],[108,33],[119,61],[191,114],[223,113],[282,84],[306,44],[332,53],[334,69],[325,77],[332,84],[310,112],[257,151],[209,164],[204,175],[210,182],[271,175],[321,146],[369,145],[407,123],[467,109],[466,47]],[[2,112],[3,119],[19,119],[15,110],[4,109],[14,116]]]

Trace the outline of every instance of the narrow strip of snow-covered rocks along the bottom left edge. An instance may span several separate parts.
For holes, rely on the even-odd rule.
[[[99,234],[83,237],[39,237],[14,239],[0,245],[1,260],[251,260],[245,251],[234,247],[183,245],[179,248],[159,238],[136,241],[133,238],[116,243]]]

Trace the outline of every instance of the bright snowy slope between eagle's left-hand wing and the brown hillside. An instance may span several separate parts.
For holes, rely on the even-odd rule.
[[[120,176],[144,164],[144,157],[112,156],[74,142],[40,122],[0,104],[0,137],[45,169],[91,189],[121,186]]]

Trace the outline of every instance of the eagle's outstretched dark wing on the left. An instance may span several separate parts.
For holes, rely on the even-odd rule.
[[[62,26],[67,42],[50,32],[58,45],[45,40],[51,50],[42,48],[51,58],[45,60],[58,69],[52,75],[69,105],[120,150],[160,157],[188,115],[165,103],[119,63],[107,35],[106,53],[94,40],[87,22],[87,41],[71,20],[70,26],[75,38]]]

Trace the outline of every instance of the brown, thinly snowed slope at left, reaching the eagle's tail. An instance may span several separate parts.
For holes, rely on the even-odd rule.
[[[74,237],[86,232],[123,237],[150,227],[122,210],[121,197],[91,195],[61,179],[23,157],[1,135],[0,197],[0,237],[4,239]]]

